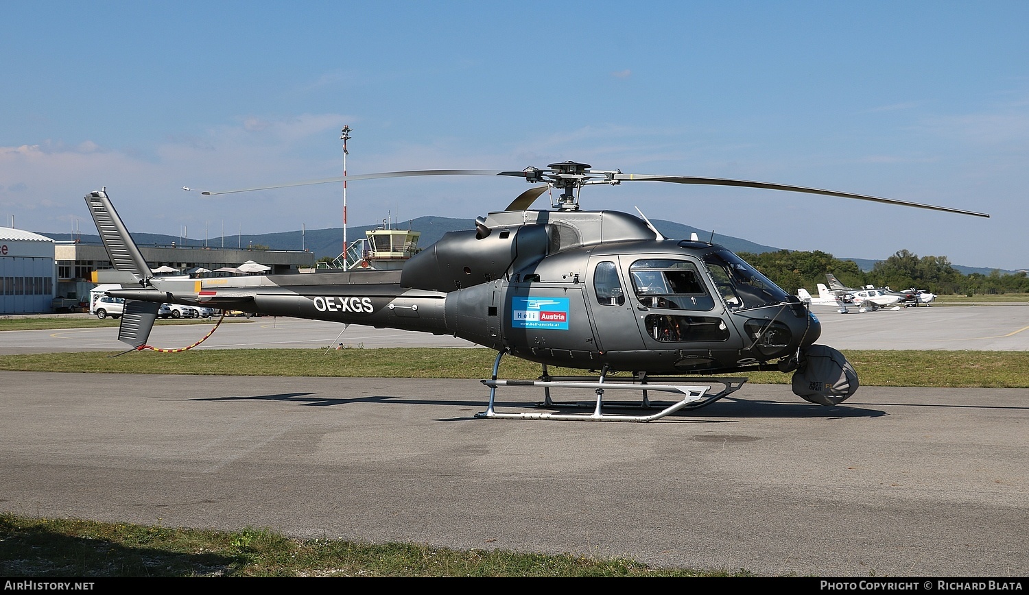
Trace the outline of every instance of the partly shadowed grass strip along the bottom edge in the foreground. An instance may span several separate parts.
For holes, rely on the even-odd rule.
[[[624,558],[421,544],[296,540],[0,514],[0,575],[31,577],[753,577],[739,570],[652,568]]]

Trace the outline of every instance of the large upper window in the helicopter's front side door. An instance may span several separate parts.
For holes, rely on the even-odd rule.
[[[640,304],[653,308],[710,310],[714,299],[697,266],[683,260],[637,260],[629,267]]]

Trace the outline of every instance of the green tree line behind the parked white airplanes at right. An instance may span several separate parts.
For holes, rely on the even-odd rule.
[[[962,274],[954,268],[946,256],[923,256],[901,250],[886,260],[875,264],[871,271],[863,271],[857,263],[840,260],[821,251],[799,252],[780,250],[753,254],[739,253],[765,276],[789,293],[805,288],[817,294],[817,284],[825,283],[825,273],[830,272],[847,287],[889,287],[893,290],[910,288],[930,291],[934,294],[990,295],[1005,293],[1029,293],[1029,276],[1025,271],[1001,274],[993,270],[989,274],[973,272]]]

